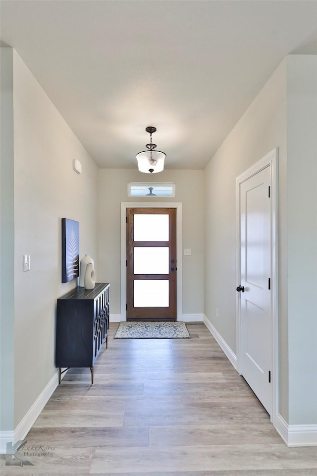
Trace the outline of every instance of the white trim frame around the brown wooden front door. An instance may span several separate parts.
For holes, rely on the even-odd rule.
[[[180,202],[121,202],[121,320],[126,312],[126,210],[127,208],[176,208],[176,321],[182,321],[182,204]]]

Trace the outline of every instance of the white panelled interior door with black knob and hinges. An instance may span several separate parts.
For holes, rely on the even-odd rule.
[[[241,374],[272,411],[271,206],[267,166],[240,184]],[[240,290],[239,290],[240,288]]]

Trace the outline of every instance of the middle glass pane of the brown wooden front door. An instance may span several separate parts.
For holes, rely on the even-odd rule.
[[[167,246],[135,246],[134,274],[168,274],[169,248]]]

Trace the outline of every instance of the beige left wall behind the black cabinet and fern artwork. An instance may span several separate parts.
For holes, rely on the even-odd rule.
[[[61,218],[80,223],[80,258],[98,258],[98,168],[15,51],[13,119],[15,428],[56,372],[56,298],[78,281],[61,283]]]

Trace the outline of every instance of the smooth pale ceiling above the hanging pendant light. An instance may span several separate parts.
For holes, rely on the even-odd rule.
[[[203,169],[288,54],[317,54],[317,1],[1,0],[27,64],[99,167]]]

